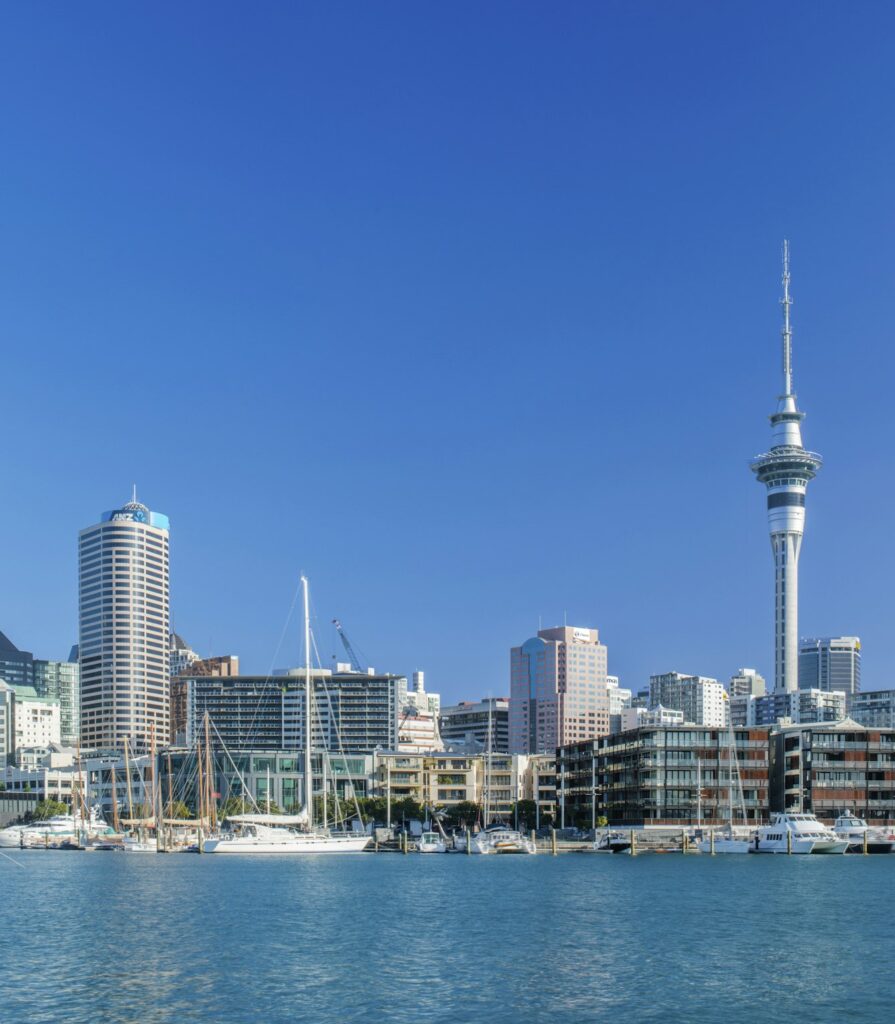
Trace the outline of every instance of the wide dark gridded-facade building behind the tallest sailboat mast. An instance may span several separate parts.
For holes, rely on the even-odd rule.
[[[369,673],[311,673],[315,749],[369,754],[398,743],[407,679]],[[304,671],[276,676],[183,676],[172,680],[175,735],[186,746],[210,728],[229,751],[304,748]]]

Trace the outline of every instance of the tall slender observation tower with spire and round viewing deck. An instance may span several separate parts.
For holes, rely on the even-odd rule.
[[[793,391],[793,332],[790,327],[790,244],[783,243],[783,392],[771,416],[769,452],[752,462],[768,490],[768,526],[774,555],[774,690],[799,688],[799,553],[805,529],[805,492],[821,458],[802,444],[804,414]]]

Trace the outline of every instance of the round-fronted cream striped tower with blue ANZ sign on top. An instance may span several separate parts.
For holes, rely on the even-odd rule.
[[[136,500],[79,535],[81,742],[143,751],[169,731],[168,517]]]

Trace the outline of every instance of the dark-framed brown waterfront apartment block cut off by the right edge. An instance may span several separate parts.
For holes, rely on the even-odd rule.
[[[770,745],[771,811],[810,811],[825,821],[852,811],[895,820],[895,730],[851,719],[784,725]]]

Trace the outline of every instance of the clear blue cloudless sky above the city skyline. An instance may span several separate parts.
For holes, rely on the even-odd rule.
[[[780,388],[825,465],[803,635],[895,685],[889,3],[7,4],[0,629],[77,636],[79,528],[171,518],[174,628],[507,692],[772,668]]]

